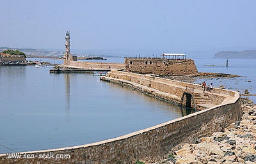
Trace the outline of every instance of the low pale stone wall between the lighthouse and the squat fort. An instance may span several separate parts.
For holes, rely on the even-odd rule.
[[[88,70],[123,70],[124,64],[119,63],[88,63],[88,62],[81,62],[81,61],[70,61],[67,60],[67,66],[72,67],[79,67]]]

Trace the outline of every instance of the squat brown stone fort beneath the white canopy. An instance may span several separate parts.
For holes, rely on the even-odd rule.
[[[154,73],[156,75],[191,75],[197,73],[191,59],[125,58],[125,71],[134,73]]]

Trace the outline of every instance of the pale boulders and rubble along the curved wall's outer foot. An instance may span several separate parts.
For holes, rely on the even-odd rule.
[[[185,144],[168,159],[154,164],[256,163],[256,105],[244,98],[241,103],[241,121],[211,137],[200,138],[196,144]]]

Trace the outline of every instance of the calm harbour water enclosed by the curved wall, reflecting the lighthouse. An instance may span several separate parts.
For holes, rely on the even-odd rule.
[[[92,74],[49,69],[0,67],[0,153],[88,144],[189,112]]]

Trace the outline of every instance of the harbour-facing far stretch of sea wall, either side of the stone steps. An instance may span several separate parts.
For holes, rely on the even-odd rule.
[[[167,78],[152,77],[150,75],[141,75],[137,73],[127,73],[124,71],[111,71],[108,73],[108,77],[102,77],[102,80],[123,84],[125,86],[131,86],[134,89],[138,89],[145,93],[151,94],[159,98],[163,98],[167,101],[174,103],[180,103],[184,92],[201,93],[202,86],[191,84],[187,82],[179,82],[176,80],[170,80]],[[226,89],[214,88],[214,93],[207,94],[211,105],[220,105],[221,103],[228,102],[234,98],[235,94],[239,94],[234,91],[228,91]],[[186,98],[186,97],[185,97]],[[185,103],[183,101],[183,103]],[[192,104],[193,107],[193,104]],[[200,105],[196,105],[197,108],[203,109]]]

